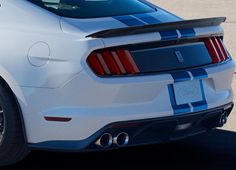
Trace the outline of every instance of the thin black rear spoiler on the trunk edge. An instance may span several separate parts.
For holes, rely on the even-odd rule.
[[[135,34],[143,34],[143,33],[151,33],[151,32],[168,31],[168,30],[218,26],[225,21],[226,21],[226,17],[183,20],[183,21],[168,22],[168,23],[162,23],[162,24],[152,24],[152,25],[144,25],[144,26],[109,29],[109,30],[99,31],[99,32],[90,34],[86,37],[109,38],[109,37],[135,35]]]

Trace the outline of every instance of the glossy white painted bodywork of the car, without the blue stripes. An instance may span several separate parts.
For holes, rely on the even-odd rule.
[[[158,32],[106,39],[86,35],[126,27],[108,17],[60,18],[25,0],[0,0],[0,75],[20,103],[29,143],[86,139],[103,126],[127,120],[172,116],[170,74],[99,78],[86,63],[96,49],[160,41]],[[160,11],[160,20],[179,20]],[[169,16],[169,17],[168,17]],[[221,27],[195,28],[198,36],[222,33]],[[233,61],[206,69],[210,108],[233,100]],[[44,116],[71,117],[47,122]]]

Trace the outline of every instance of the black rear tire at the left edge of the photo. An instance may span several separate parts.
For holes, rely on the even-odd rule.
[[[29,150],[21,124],[21,113],[10,88],[0,83],[0,166],[15,164],[27,156]],[[0,124],[1,124],[0,122]],[[1,131],[3,133],[1,133]]]

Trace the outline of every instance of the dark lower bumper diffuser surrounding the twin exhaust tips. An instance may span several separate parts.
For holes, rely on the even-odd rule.
[[[109,124],[89,138],[81,141],[48,141],[29,144],[31,149],[47,149],[61,151],[99,151],[104,150],[95,145],[102,134],[109,133],[113,137],[121,132],[129,135],[126,146],[157,144],[183,139],[196,134],[221,127],[222,117],[228,117],[233,109],[233,103],[214,109],[165,118],[125,121]],[[111,145],[106,149],[117,148]]]

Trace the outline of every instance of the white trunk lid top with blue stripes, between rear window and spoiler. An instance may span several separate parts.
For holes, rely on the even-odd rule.
[[[111,29],[129,28],[136,26],[145,26],[152,24],[161,24],[166,22],[180,21],[181,19],[171,15],[161,9],[155,12],[139,13],[132,15],[122,15],[113,17],[87,18],[75,19],[66,18],[61,19],[61,28],[67,33],[84,32],[86,36]]]

